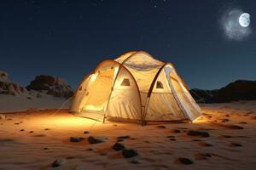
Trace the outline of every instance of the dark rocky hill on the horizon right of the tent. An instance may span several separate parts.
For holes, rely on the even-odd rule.
[[[238,100],[256,100],[256,81],[237,80],[217,90],[191,89],[190,94],[199,103],[224,103]]]

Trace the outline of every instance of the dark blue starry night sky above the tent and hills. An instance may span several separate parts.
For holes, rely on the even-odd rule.
[[[234,8],[251,15],[241,40],[222,29]],[[256,80],[255,28],[255,0],[2,0],[0,70],[24,86],[46,74],[76,88],[103,59],[144,50],[172,62],[189,88],[220,88]]]

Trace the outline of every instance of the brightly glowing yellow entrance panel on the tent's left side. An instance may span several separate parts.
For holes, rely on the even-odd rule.
[[[94,119],[104,116],[104,110],[111,92],[114,70],[100,71],[87,88],[87,100],[82,107],[82,115]]]

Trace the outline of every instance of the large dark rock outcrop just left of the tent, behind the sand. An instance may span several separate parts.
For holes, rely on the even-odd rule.
[[[30,82],[30,85],[26,88],[28,90],[45,92],[46,94],[66,99],[73,96],[73,89],[71,86],[60,77],[41,75]]]

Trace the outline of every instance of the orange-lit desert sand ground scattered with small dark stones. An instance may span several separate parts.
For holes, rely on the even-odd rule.
[[[194,123],[144,127],[95,122],[67,110],[4,114],[0,169],[51,169],[57,159],[62,163],[56,169],[255,169],[255,105],[201,105],[203,116]],[[191,136],[191,130],[202,133]],[[90,144],[90,136],[102,143]],[[72,142],[71,137],[79,141]],[[138,156],[124,158],[121,150],[113,150],[118,140]]]

